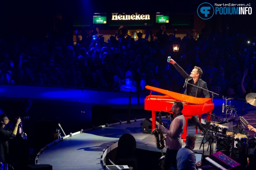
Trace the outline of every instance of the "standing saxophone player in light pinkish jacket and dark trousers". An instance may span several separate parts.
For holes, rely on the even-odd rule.
[[[174,102],[172,105],[172,112],[175,117],[171,121],[170,128],[167,129],[163,125],[158,126],[158,129],[167,135],[165,139],[166,153],[163,163],[164,170],[169,170],[171,166],[177,168],[176,155],[182,146],[181,134],[185,125],[185,118],[182,114],[182,109],[182,102]]]

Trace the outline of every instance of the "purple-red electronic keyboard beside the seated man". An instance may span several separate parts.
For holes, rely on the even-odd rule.
[[[206,157],[205,159],[222,170],[229,170],[240,165],[239,163],[237,163],[227,155],[223,154],[222,152],[214,153]]]

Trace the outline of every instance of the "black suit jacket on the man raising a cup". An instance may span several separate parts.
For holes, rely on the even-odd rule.
[[[175,63],[173,66],[174,66],[174,67],[177,69],[177,71],[182,75],[182,77],[184,77],[185,79],[188,80],[188,81],[187,81],[188,83],[193,84],[193,83],[192,83],[192,81],[193,81],[192,77],[190,77],[189,74],[187,74],[177,63]],[[186,90],[185,90],[185,92],[184,92],[184,94],[186,94],[186,95],[187,95],[187,86],[188,86],[188,85],[189,85],[189,84],[186,84]],[[191,86],[191,85],[189,85],[189,86]],[[207,85],[206,85],[206,82],[203,81],[202,79],[199,79],[199,80],[198,80],[197,86],[198,86],[198,87],[202,87],[203,89],[208,90]],[[196,88],[196,90],[195,90],[195,96],[193,96],[193,97],[199,97],[199,98],[201,98],[201,97],[202,97],[202,94],[203,94],[205,98],[210,98],[210,95],[209,95],[208,91],[203,90],[203,89]]]

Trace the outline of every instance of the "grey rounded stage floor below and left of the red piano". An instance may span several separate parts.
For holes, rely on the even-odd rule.
[[[162,118],[163,122],[168,122],[170,118]],[[155,137],[151,134],[142,133],[142,120],[131,121],[131,124],[122,122],[108,127],[91,130],[84,133],[79,133],[72,137],[68,137],[44,150],[39,155],[39,164],[50,164],[53,170],[80,170],[80,169],[102,169],[100,164],[100,154],[103,149],[107,149],[107,145],[111,146],[121,135],[125,133],[132,134],[137,143],[137,148],[150,151],[160,152],[156,148]],[[197,136],[194,152],[202,153],[203,146],[200,147],[203,133],[195,134],[195,126],[188,124],[187,134]],[[145,145],[147,144],[147,145]],[[185,143],[182,144],[182,147]],[[204,155],[209,155],[207,151],[208,142],[204,145]],[[213,150],[215,153],[216,144],[214,143]],[[163,150],[165,152],[165,148]],[[249,154],[253,154],[254,149],[249,149]]]

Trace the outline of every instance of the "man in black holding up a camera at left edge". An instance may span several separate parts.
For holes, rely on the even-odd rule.
[[[21,122],[21,119],[17,119],[17,123],[15,124],[13,132],[6,130],[6,125],[9,123],[9,119],[6,114],[0,115],[0,121],[1,121],[1,126],[0,126],[0,151],[1,151],[1,156],[3,159],[3,162],[9,162],[8,154],[9,154],[9,139],[16,137],[16,134],[19,130],[19,133],[21,133],[21,129],[19,127],[19,124]]]

